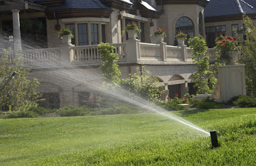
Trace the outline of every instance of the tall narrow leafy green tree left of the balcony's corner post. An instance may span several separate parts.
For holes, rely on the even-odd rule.
[[[99,52],[101,54],[101,61],[104,63],[100,66],[100,70],[102,71],[103,79],[107,82],[114,83],[114,85],[118,85],[120,83],[120,70],[119,65],[117,65],[117,61],[119,59],[118,54],[114,53],[114,46],[110,46],[109,43],[100,43]]]

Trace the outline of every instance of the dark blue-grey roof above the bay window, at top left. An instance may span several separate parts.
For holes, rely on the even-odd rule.
[[[34,0],[36,1],[36,0]],[[66,0],[60,6],[48,8],[47,11],[58,11],[64,9],[109,9],[109,6],[103,4],[100,0]]]

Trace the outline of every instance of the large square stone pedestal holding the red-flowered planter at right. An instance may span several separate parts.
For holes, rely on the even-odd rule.
[[[245,65],[218,66],[220,101],[228,101],[233,96],[246,95]]]

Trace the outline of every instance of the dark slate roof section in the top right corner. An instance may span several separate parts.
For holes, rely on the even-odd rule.
[[[205,6],[205,18],[237,14],[256,14],[256,1],[210,0]]]

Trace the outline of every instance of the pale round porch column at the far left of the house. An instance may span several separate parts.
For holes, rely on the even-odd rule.
[[[13,38],[14,38],[14,51],[18,52],[21,49],[21,29],[19,25],[19,10],[11,10],[13,13]]]

